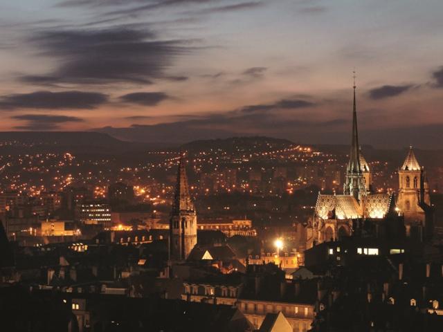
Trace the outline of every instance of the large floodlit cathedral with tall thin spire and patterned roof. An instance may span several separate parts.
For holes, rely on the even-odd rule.
[[[359,146],[355,84],[353,88],[352,140],[343,194],[318,194],[307,226],[307,248],[350,236],[429,239],[433,224],[429,185],[412,147],[398,170],[397,195],[372,191],[371,170]]]

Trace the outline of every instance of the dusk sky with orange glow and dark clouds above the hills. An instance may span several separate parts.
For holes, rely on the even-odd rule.
[[[443,148],[441,0],[0,0],[1,131]]]

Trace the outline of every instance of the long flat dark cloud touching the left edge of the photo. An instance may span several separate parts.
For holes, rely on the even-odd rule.
[[[36,91],[0,97],[0,109],[93,109],[107,102],[103,93]]]

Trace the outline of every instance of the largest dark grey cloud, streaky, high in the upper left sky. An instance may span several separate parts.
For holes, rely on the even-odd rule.
[[[30,40],[41,55],[60,61],[58,68],[42,76],[26,76],[34,83],[149,84],[165,77],[174,57],[186,53],[184,41],[161,41],[148,30],[115,27],[107,30],[50,30]],[[182,77],[180,77],[180,80]]]

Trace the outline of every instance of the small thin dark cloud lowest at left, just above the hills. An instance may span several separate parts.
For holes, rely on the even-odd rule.
[[[82,122],[83,119],[75,116],[52,116],[45,114],[23,114],[19,116],[12,116],[12,119],[22,120],[26,125],[17,126],[15,129],[26,130],[52,130],[57,129],[59,124],[66,122]]]

